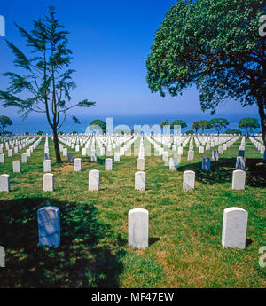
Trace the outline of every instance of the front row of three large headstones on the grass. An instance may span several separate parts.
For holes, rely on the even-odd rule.
[[[59,247],[59,208],[44,207],[37,211],[39,245]],[[222,247],[244,249],[246,247],[248,213],[243,208],[223,210]],[[149,211],[144,208],[130,209],[128,213],[128,243],[130,247],[149,247]]]

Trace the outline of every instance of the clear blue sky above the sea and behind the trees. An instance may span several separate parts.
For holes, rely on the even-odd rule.
[[[173,0],[112,1],[2,1],[0,15],[6,21],[6,38],[22,46],[14,22],[26,29],[32,20],[47,13],[47,6],[57,8],[57,18],[71,32],[69,46],[73,51],[72,66],[76,73],[73,101],[84,98],[97,102],[90,115],[105,114],[201,114],[199,93],[184,91],[182,97],[160,98],[151,93],[145,82],[145,59],[153,44],[155,31]],[[13,71],[12,52],[0,37],[0,73]],[[0,88],[7,82],[0,75]],[[0,113],[14,117],[14,109],[0,106]],[[76,109],[75,114],[84,114]],[[242,108],[231,100],[219,106],[219,114],[256,116],[256,106]],[[207,112],[209,114],[209,112]]]

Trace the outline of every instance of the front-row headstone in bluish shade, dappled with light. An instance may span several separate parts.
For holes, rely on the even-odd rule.
[[[41,247],[59,247],[60,219],[59,208],[47,206],[37,211],[39,244]]]

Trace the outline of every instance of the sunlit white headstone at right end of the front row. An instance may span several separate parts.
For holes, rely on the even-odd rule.
[[[243,208],[225,208],[223,210],[223,247],[246,247],[247,218],[248,213]]]

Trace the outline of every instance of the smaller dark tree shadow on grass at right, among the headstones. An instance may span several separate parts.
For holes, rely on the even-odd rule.
[[[252,187],[266,186],[266,168],[265,166],[256,166],[261,162],[259,159],[246,158],[246,185]],[[219,161],[211,161],[211,170],[202,171],[201,162],[196,162],[178,167],[177,170],[184,172],[192,170],[196,173],[196,180],[201,184],[230,183],[232,172],[236,169],[236,158],[220,158]]]

